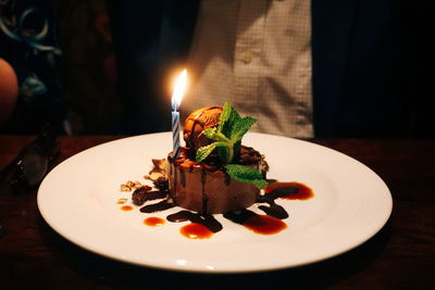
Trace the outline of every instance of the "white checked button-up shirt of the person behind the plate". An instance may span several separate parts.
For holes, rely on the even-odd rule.
[[[313,136],[310,0],[202,0],[182,115],[229,101],[253,131]]]

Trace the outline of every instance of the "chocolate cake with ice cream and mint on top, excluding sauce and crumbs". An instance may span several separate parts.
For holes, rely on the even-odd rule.
[[[231,114],[233,116],[225,119],[225,115]],[[221,125],[223,122],[226,127]],[[183,129],[186,147],[182,148],[178,157],[174,159],[172,153],[167,156],[169,193],[176,205],[198,213],[219,214],[239,211],[257,202],[260,189],[266,186],[263,178],[268,165],[257,150],[240,144],[243,135],[253,122],[249,117],[239,117],[228,103],[224,109],[196,110],[186,118]],[[220,133],[223,136],[216,136]],[[225,139],[228,146],[223,144]],[[213,142],[217,144],[213,146]],[[203,151],[208,151],[206,157]],[[231,176],[228,165],[257,172],[259,182]]]

